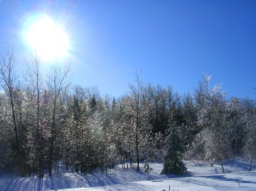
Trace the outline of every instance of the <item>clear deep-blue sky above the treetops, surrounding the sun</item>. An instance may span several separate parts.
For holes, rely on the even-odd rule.
[[[256,99],[256,1],[4,1],[0,44],[14,41],[18,70],[31,52],[24,26],[49,15],[69,35],[73,83],[102,94],[129,91],[135,68],[144,83],[193,92],[202,73],[228,96]],[[36,17],[36,16],[35,16]]]

